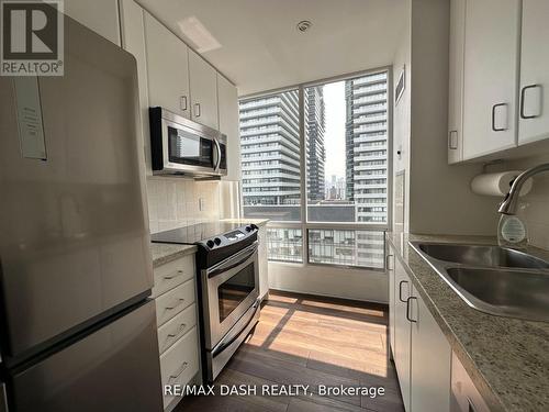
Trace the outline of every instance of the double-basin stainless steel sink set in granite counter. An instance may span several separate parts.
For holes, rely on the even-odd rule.
[[[549,322],[549,263],[498,246],[410,244],[470,307]]]

